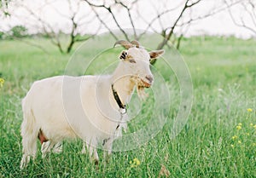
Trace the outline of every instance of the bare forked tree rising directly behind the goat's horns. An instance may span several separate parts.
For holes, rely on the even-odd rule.
[[[126,12],[126,18],[123,15],[122,16],[123,19],[121,19],[121,20],[124,20],[130,24],[129,27],[132,29],[132,32],[133,32],[132,37],[135,39],[140,39],[141,37],[143,37],[143,35],[145,35],[148,32],[148,30],[160,33],[160,35],[163,37],[163,41],[158,45],[158,49],[162,49],[167,44],[167,42],[171,39],[174,29],[177,26],[177,22],[181,19],[181,17],[183,16],[183,13],[186,11],[186,9],[190,9],[192,6],[195,6],[195,4],[200,3],[201,0],[197,0],[196,2],[192,2],[192,0],[186,0],[185,3],[181,2],[176,7],[173,7],[171,9],[164,9],[161,12],[158,12],[158,10],[155,9],[154,11],[157,12],[157,14],[151,20],[148,20],[147,17],[143,17],[143,15],[140,13],[140,10],[134,9],[134,7],[137,5],[137,3],[139,3],[138,0],[135,0],[135,1],[113,0],[112,2],[108,2],[108,3],[106,1],[102,1],[102,3],[98,3],[98,2],[92,3],[92,1],[90,1],[90,0],[84,0],[84,2],[88,3],[88,5],[91,7],[92,11],[96,14],[97,19],[101,21],[103,26],[105,26],[108,29],[108,31],[112,34],[112,36],[115,39],[117,39],[118,37],[116,37],[116,35],[111,30],[112,28],[103,20],[103,17],[106,16],[106,14],[105,15],[100,14],[100,12],[102,12],[102,11],[100,11],[100,10],[97,11],[97,9],[104,9],[105,12],[107,13],[107,15],[109,15],[112,18],[115,26],[117,26],[119,31],[122,32],[122,34],[124,35],[126,40],[131,41],[131,39],[127,35],[127,32],[125,32],[125,28],[122,26],[122,23],[121,23],[122,21],[119,21],[117,19],[117,16],[119,16],[119,14],[117,14],[117,12],[114,12],[114,10],[113,10],[113,9],[117,9],[117,8],[122,9],[123,12]],[[148,4],[150,4],[150,3],[148,3]],[[170,12],[177,10],[177,8],[179,8],[181,6],[183,6],[183,9],[181,9],[181,12],[177,16],[177,19],[174,20],[174,23],[172,24],[172,26],[167,26],[167,27],[162,26],[161,17],[163,15],[166,15]],[[154,8],[154,5],[153,5],[153,8]],[[138,9],[142,9],[142,8],[138,8]],[[137,26],[135,23],[136,22],[135,19],[137,19],[135,17],[136,15],[139,16],[139,18],[141,18],[143,20],[144,24],[146,25],[144,32],[141,32],[140,34],[137,34],[137,31],[136,31],[136,29],[137,29]],[[158,30],[154,29],[154,22],[157,20],[159,21],[159,25],[162,26],[161,32],[158,32]],[[180,40],[182,39],[182,37],[183,36],[180,36],[178,38],[178,46],[179,46],[179,43],[180,43]],[[152,60],[152,61],[154,62],[154,60]]]

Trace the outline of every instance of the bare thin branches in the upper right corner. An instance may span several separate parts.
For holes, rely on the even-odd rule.
[[[224,0],[229,5],[231,2]],[[234,14],[236,8],[240,9],[243,14],[237,16]],[[232,6],[229,9],[230,17],[236,26],[241,26],[250,32],[253,32],[256,37],[256,1],[255,0],[243,0],[238,3],[236,7]]]

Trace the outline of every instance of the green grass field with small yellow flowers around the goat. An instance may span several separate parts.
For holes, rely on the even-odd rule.
[[[79,153],[81,141],[65,141],[61,154],[42,160],[38,152],[33,164],[20,171],[20,100],[33,81],[63,74],[71,57],[60,55],[44,39],[34,40],[44,43],[49,54],[24,43],[0,41],[0,78],[5,80],[0,90],[0,177],[158,177],[160,173],[163,177],[165,173],[170,177],[256,176],[256,41],[234,37],[183,40],[180,52],[193,80],[194,103],[188,123],[175,139],[170,135],[179,103],[178,85],[172,72],[159,61],[156,68],[167,80],[172,107],[170,118],[154,139],[136,150],[114,152],[108,164],[101,159],[98,170],[88,155]],[[91,46],[91,50],[96,48],[95,44]],[[83,54],[86,58],[91,51]],[[99,73],[113,55],[107,52],[102,64],[92,65],[89,73]],[[149,97],[148,106],[153,102]],[[150,113],[147,107],[143,111],[130,123],[130,131],[146,122],[143,118]],[[236,127],[239,123],[241,129]],[[140,165],[132,166],[134,158]]]

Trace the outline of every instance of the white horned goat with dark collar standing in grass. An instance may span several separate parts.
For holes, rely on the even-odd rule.
[[[23,157],[20,169],[35,158],[37,138],[41,141],[42,157],[47,152],[61,152],[61,141],[80,137],[84,148],[98,163],[96,146],[111,153],[113,140],[125,127],[125,103],[135,88],[140,97],[143,89],[153,83],[149,60],[164,50],[147,52],[137,41],[120,40],[125,47],[119,65],[110,76],[58,76],[32,84],[22,100],[21,136]],[[79,98],[75,97],[79,93]],[[78,100],[79,99],[79,100]]]

